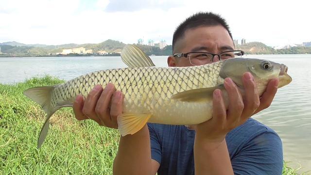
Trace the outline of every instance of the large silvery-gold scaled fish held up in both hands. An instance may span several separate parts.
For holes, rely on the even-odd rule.
[[[52,114],[62,107],[72,106],[78,94],[86,97],[97,84],[104,88],[113,83],[124,94],[123,114],[117,119],[120,134],[124,136],[136,133],[147,122],[190,125],[209,120],[212,93],[216,88],[222,89],[225,102],[228,101],[223,87],[226,77],[230,77],[243,93],[242,74],[251,72],[259,95],[272,78],[279,79],[278,88],[292,81],[285,65],[260,59],[231,58],[202,66],[159,68],[133,45],[124,47],[121,58],[129,68],[95,71],[61,85],[24,91],[47,113],[38,148],[48,133]]]

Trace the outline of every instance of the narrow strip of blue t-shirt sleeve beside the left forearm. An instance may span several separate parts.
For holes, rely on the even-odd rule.
[[[162,152],[159,138],[155,132],[156,128],[148,123],[148,129],[150,134],[151,158],[161,164]]]

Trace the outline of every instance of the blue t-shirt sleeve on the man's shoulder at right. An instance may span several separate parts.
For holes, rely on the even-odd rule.
[[[250,140],[231,160],[235,175],[281,175],[283,150],[279,136],[266,131]]]

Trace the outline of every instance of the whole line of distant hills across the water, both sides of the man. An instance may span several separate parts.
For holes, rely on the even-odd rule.
[[[307,44],[307,43],[306,43]],[[163,49],[155,46],[137,45],[148,55],[171,55],[172,45]],[[89,56],[89,55],[120,55],[124,43],[108,39],[97,44],[23,44],[16,41],[0,43],[0,56]],[[237,50],[243,50],[246,54],[311,54],[311,47],[291,47],[288,49],[274,49],[261,42],[250,42],[237,45]]]

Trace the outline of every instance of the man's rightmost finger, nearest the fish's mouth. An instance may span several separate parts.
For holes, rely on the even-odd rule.
[[[261,95],[260,105],[257,108],[257,110],[254,112],[254,114],[258,113],[259,111],[265,108],[268,108],[271,105],[276,95],[277,85],[278,85],[278,79],[272,79],[269,81],[266,91]]]

